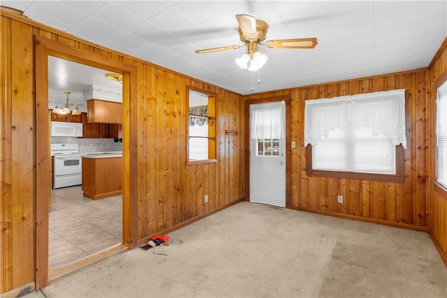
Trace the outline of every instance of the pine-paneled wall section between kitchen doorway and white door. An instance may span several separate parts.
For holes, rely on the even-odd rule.
[[[145,199],[138,206],[139,239],[243,196],[242,97],[149,66],[141,76],[146,97],[138,114],[138,193]],[[185,86],[217,94],[217,163],[186,166]]]

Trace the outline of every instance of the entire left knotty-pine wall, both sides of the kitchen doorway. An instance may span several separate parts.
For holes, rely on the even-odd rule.
[[[242,95],[82,41],[1,10],[0,293],[35,281],[36,117],[34,35],[137,68],[138,217],[133,234],[150,235],[243,197]],[[186,166],[186,87],[217,95],[216,163]],[[133,119],[131,121],[134,121]],[[226,130],[238,132],[226,135]],[[49,141],[49,140],[48,140]],[[129,152],[129,148],[123,151]],[[209,201],[205,204],[204,196]]]

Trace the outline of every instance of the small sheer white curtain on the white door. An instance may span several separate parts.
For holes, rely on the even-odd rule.
[[[284,139],[284,118],[281,108],[251,111],[251,139]]]

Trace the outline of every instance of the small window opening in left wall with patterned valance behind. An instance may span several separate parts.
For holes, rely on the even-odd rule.
[[[188,160],[216,161],[216,98],[189,90],[188,97]]]

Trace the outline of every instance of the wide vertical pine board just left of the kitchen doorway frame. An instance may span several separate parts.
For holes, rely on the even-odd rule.
[[[11,22],[11,183],[13,288],[34,280],[34,45],[32,28]],[[46,112],[45,112],[46,114]],[[17,183],[20,178],[20,183]]]

